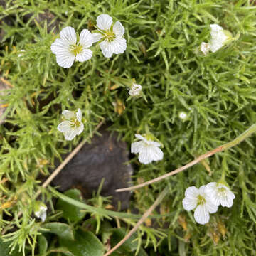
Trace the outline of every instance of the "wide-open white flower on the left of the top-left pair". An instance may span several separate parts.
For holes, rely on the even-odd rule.
[[[87,29],[82,30],[77,43],[75,29],[68,26],[60,31],[60,38],[52,43],[50,49],[56,55],[60,67],[70,68],[75,60],[84,62],[92,58],[92,50],[87,49],[92,46],[92,43],[92,33]]]

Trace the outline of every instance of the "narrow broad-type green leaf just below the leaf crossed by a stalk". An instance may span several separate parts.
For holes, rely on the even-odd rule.
[[[66,240],[74,240],[74,233],[72,228],[65,223],[46,223],[42,225],[42,228],[48,229],[48,231],[42,230],[42,232],[49,232],[58,235],[60,238]]]

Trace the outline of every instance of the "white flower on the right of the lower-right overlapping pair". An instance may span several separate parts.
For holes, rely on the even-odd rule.
[[[206,192],[211,198],[211,201],[215,206],[227,206],[231,207],[233,205],[233,200],[235,195],[230,188],[222,183],[210,182],[206,185]]]

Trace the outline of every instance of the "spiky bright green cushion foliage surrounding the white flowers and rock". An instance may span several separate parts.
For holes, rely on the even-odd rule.
[[[146,126],[164,144],[163,161],[142,165],[134,156],[134,183],[166,174],[235,139],[256,122],[254,3],[16,0],[0,7],[1,29],[5,32],[1,38],[0,71],[12,85],[4,97],[9,104],[6,124],[0,126],[0,177],[2,181],[8,179],[0,184],[1,217],[11,217],[0,221],[1,228],[9,222],[18,227],[16,233],[9,234],[14,245],[24,247],[26,239],[28,245],[35,245],[41,223],[33,222],[33,196],[42,190],[43,200],[51,197],[41,188],[38,174],[48,176],[53,159],[92,134],[100,120],[107,119],[112,124],[110,129],[119,132],[119,138],[128,145],[135,133],[146,132]],[[52,23],[35,21],[46,10],[55,17]],[[83,28],[92,29],[100,14],[110,14],[124,25],[125,53],[108,59],[93,46],[91,60],[74,63],[68,70],[60,68],[50,51],[51,43],[58,38],[53,22],[57,21],[58,31],[72,26],[80,33]],[[209,25],[213,23],[239,38],[203,56],[198,46],[210,41]],[[135,78],[143,87],[144,97],[127,100],[123,78]],[[113,85],[117,89],[111,90]],[[122,114],[114,111],[116,102],[125,105]],[[61,110],[78,108],[82,110],[85,130],[72,142],[66,142],[56,129]],[[188,114],[186,121],[178,118],[180,111]],[[68,149],[64,149],[66,146]],[[167,228],[162,227],[166,238],[161,233],[161,241],[157,242],[153,235],[148,246],[154,244],[157,250],[159,245],[166,252],[161,245],[166,244],[170,251],[178,245],[176,252],[180,255],[255,255],[255,169],[252,135],[202,164],[138,190],[131,208],[144,213],[159,191],[169,186],[169,196],[160,210],[171,213],[171,217],[157,220],[159,225],[169,223]],[[184,191],[188,186],[218,181],[223,172],[236,196],[233,207],[219,208],[208,225],[198,225],[182,208]],[[18,220],[14,216],[19,211],[23,217]],[[139,245],[146,244],[142,234],[152,233],[150,228],[142,227]],[[171,245],[173,240],[175,246]]]

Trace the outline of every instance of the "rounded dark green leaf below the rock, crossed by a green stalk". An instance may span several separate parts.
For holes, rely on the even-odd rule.
[[[82,202],[82,193],[78,189],[70,189],[68,191],[65,191],[64,195]],[[78,206],[71,205],[70,203],[67,203],[61,199],[58,199],[56,209],[62,210],[63,218],[65,218],[66,220],[70,220],[74,223],[82,220],[82,218],[84,218],[86,214],[85,212],[82,212],[82,209]]]

